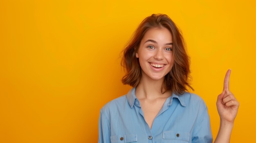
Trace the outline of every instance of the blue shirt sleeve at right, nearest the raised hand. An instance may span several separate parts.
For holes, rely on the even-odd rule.
[[[192,143],[212,143],[213,141],[208,110],[206,106],[203,109],[204,110],[199,114],[199,118],[195,123],[195,128],[192,134]]]

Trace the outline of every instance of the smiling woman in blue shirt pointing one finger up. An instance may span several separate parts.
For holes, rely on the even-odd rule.
[[[100,112],[99,143],[212,143],[207,106],[190,86],[183,37],[167,15],[145,18],[124,49],[123,84],[133,88]],[[229,143],[239,103],[227,71],[215,143]]]

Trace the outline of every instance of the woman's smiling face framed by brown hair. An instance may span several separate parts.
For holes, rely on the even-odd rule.
[[[142,79],[163,80],[173,67],[173,37],[166,28],[149,29],[136,53],[142,70]]]

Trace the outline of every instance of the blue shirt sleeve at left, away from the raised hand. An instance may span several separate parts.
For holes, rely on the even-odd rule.
[[[111,143],[110,140],[110,121],[103,114],[102,110],[99,115],[99,139],[98,143]]]

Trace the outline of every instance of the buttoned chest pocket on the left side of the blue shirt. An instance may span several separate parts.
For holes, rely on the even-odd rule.
[[[137,134],[111,136],[111,143],[137,143]]]

